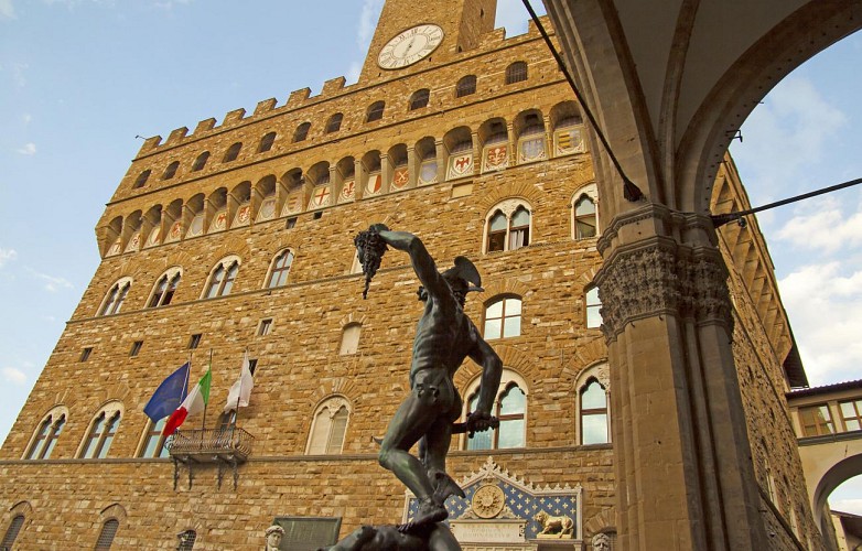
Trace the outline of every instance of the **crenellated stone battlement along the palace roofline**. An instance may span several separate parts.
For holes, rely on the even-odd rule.
[[[548,29],[548,31],[552,33],[550,26],[550,20],[548,19],[548,17],[543,15],[540,19],[546,25],[546,29]],[[459,57],[453,63],[462,63],[464,61],[477,56],[487,55],[488,53],[499,50],[500,47],[509,47],[509,46],[517,45],[519,43],[530,42],[540,37],[541,35],[539,33],[539,30],[532,21],[528,22],[528,28],[526,33],[518,34],[511,37],[506,36],[506,30],[504,28],[495,29],[494,31],[488,32],[482,36],[477,48],[463,52],[462,54],[459,55]],[[402,78],[408,78],[409,76],[411,75],[396,76],[395,78],[402,79]],[[346,78],[344,76],[337,76],[335,78],[331,78],[324,82],[323,87],[320,94],[317,95],[312,95],[311,88],[309,87],[300,88],[298,90],[291,91],[288,96],[287,102],[283,104],[282,106],[278,105],[277,98],[269,98],[259,101],[255,107],[254,112],[248,116],[246,116],[245,108],[238,108],[228,111],[225,115],[224,120],[222,121],[220,125],[217,125],[217,119],[213,117],[200,121],[195,126],[194,131],[191,133],[188,132],[187,127],[181,127],[172,130],[168,139],[164,141],[162,141],[161,136],[153,136],[151,138],[148,138],[147,140],[144,140],[143,144],[141,145],[141,149],[138,151],[138,155],[136,156],[136,159],[151,155],[163,149],[181,145],[191,140],[207,138],[211,134],[223,132],[225,130],[229,130],[235,127],[254,123],[260,120],[266,120],[278,114],[294,111],[298,109],[309,107],[310,105],[315,105],[322,101],[326,101],[330,99],[334,99],[336,97],[344,96],[345,94],[348,93],[380,86],[391,79],[392,77],[387,77],[384,80],[374,79],[367,83],[359,82],[356,84],[345,86]]]

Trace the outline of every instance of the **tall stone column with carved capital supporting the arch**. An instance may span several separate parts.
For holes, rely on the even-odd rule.
[[[599,248],[622,549],[767,549],[709,218],[647,205]]]

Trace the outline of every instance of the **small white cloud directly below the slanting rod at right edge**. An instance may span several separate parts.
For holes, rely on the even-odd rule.
[[[841,206],[834,196],[806,202],[775,236],[796,248],[825,255],[862,245],[862,205],[848,217]]]

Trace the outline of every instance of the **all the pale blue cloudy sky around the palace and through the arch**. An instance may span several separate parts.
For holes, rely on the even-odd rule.
[[[137,137],[355,82],[381,7],[0,0],[0,441],[98,266],[94,227]],[[509,36],[526,31],[520,0],[497,11]],[[860,88],[858,33],[772,90],[731,147],[752,205],[862,176]],[[862,186],[758,220],[809,381],[860,378]],[[862,477],[830,503],[862,515]]]

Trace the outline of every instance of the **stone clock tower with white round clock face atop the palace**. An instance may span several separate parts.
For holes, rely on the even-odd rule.
[[[359,82],[451,61],[494,30],[497,0],[386,0]]]

